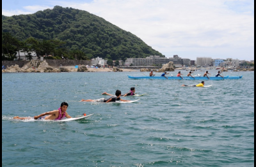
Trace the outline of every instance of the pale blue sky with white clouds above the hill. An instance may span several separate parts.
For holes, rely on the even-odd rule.
[[[102,17],[166,57],[254,60],[253,0],[2,0],[2,15],[56,5]]]

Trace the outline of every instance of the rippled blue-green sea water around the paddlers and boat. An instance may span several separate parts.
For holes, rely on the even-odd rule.
[[[254,71],[224,72],[243,78],[205,80],[211,87],[127,75],[148,74],[2,73],[2,166],[254,166]],[[122,98],[136,103],[79,102],[130,87],[147,94]],[[12,119],[56,110],[63,101],[72,117],[94,115]]]

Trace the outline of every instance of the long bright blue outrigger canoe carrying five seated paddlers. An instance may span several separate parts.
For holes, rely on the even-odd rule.
[[[152,80],[167,80],[164,76],[130,76],[131,79],[152,79]],[[191,76],[182,76],[180,78],[179,76],[166,76],[168,80],[237,80],[241,79],[243,75],[241,76],[209,76],[209,79],[206,76],[194,76],[195,78],[192,78]]]

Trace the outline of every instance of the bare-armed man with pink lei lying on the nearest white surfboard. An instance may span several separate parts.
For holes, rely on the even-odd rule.
[[[65,117],[72,118],[67,113],[68,103],[62,102],[58,110],[53,110],[51,112],[45,112],[34,117],[34,119],[45,119],[45,120],[61,120]],[[47,116],[45,116],[47,115]],[[45,117],[44,117],[45,116]],[[13,117],[13,119],[32,119],[31,117]]]

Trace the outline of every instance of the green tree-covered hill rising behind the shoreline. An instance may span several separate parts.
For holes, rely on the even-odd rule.
[[[103,18],[61,6],[30,15],[2,15],[2,43],[3,33],[10,33],[20,41],[31,37],[36,40],[65,41],[62,45],[65,50],[81,50],[90,59],[99,56],[125,61],[129,57],[164,56],[134,34]]]

